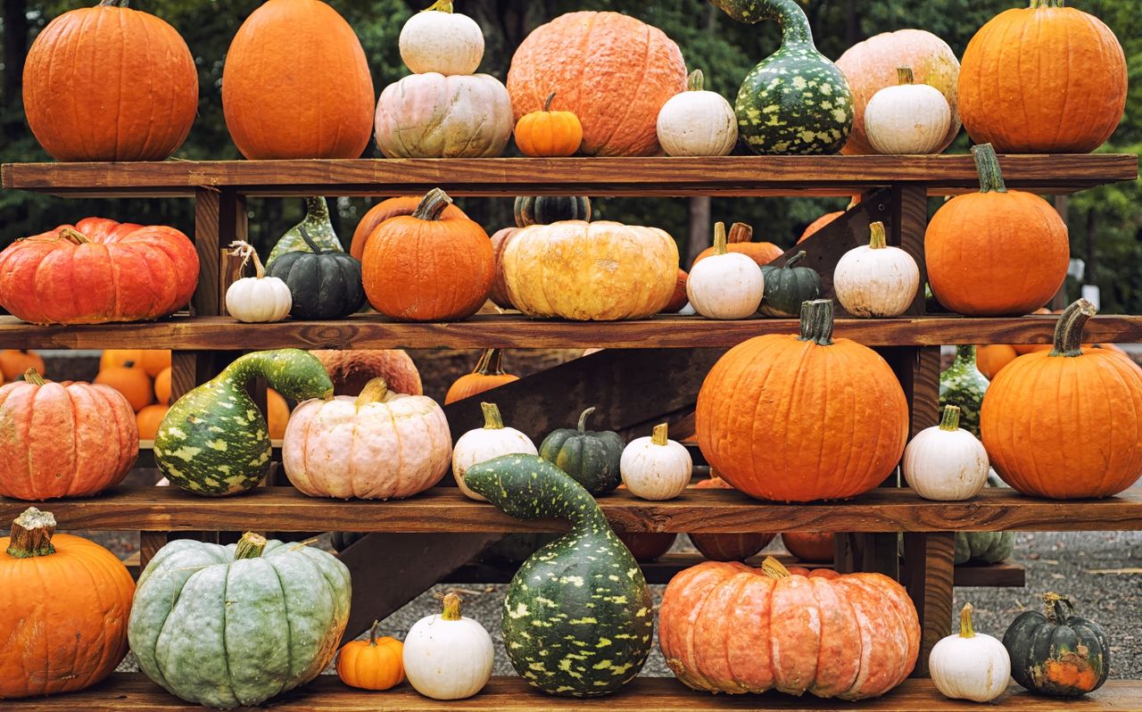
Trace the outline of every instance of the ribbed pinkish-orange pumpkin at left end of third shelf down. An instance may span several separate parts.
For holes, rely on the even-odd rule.
[[[121,482],[139,454],[127,399],[105,385],[45,383],[35,370],[24,378],[0,387],[0,495],[89,497]]]

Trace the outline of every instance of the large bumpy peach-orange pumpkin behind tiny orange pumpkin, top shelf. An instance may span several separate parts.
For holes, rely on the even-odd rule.
[[[579,118],[585,155],[658,153],[658,113],[685,88],[678,46],[619,13],[569,13],[536,27],[507,73],[515,118],[557,93],[560,105]]]

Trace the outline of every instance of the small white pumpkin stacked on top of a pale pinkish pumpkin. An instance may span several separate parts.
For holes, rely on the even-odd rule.
[[[401,27],[401,59],[417,74],[472,74],[484,58],[484,33],[476,21],[436,0]]]

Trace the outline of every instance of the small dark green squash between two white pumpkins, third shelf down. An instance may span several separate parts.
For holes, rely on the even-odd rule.
[[[561,427],[544,438],[539,456],[571,475],[593,495],[609,493],[619,486],[619,461],[626,443],[610,430],[587,430],[587,418],[595,413],[587,408],[579,416],[578,429]]]

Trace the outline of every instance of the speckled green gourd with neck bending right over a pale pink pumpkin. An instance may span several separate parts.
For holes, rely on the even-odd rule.
[[[286,398],[330,398],[333,384],[316,357],[298,349],[255,351],[170,407],[154,437],[154,459],[172,485],[199,495],[247,490],[270,469],[270,429],[246,392],[260,376]]]

